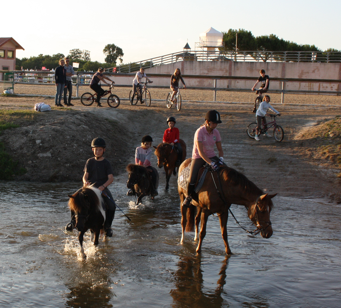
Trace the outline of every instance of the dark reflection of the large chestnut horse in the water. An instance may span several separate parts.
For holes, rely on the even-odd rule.
[[[225,256],[225,260],[222,262],[217,287],[213,292],[208,292],[208,289],[204,287],[201,256],[181,257],[178,263],[178,270],[174,274],[175,289],[170,291],[170,295],[172,295],[174,300],[172,306],[197,308],[223,307],[224,299],[221,294],[224,292],[223,287],[226,283],[228,258],[228,256]]]

